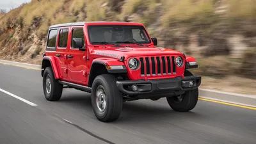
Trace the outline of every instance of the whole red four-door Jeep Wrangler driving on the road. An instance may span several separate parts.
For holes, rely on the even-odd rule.
[[[92,93],[95,116],[116,120],[123,102],[166,97],[174,111],[198,101],[195,58],[156,47],[145,26],[134,22],[75,22],[49,27],[42,60],[44,95],[59,100],[63,88]]]

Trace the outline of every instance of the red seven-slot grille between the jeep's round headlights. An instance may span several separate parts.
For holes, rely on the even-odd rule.
[[[166,76],[176,74],[174,56],[141,57],[141,76]]]

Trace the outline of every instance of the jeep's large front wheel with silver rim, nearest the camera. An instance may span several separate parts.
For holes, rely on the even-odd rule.
[[[92,107],[101,122],[118,119],[123,108],[123,97],[116,86],[116,77],[104,74],[97,76],[92,84]]]

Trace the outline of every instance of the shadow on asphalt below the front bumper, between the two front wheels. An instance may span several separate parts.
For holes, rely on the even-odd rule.
[[[143,102],[140,103],[124,103],[122,115],[116,122],[157,122],[159,120],[170,122],[173,120],[188,118],[188,116],[191,118],[198,118],[198,116],[200,116],[193,111],[179,113],[177,111],[173,111],[167,103],[161,105],[159,104],[160,102],[157,103],[158,104],[154,104],[154,102],[150,102],[150,100],[143,100]]]

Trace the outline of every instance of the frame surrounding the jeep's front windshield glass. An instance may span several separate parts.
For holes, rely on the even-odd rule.
[[[148,31],[147,31],[147,29],[145,29],[145,27],[144,26],[141,26],[141,25],[129,25],[129,24],[127,24],[127,25],[124,25],[124,24],[99,24],[99,25],[97,25],[97,24],[93,24],[93,25],[88,25],[87,26],[87,33],[88,33],[88,41],[89,41],[89,43],[91,44],[91,45],[108,45],[108,44],[100,44],[100,43],[93,43],[91,40],[90,40],[90,33],[89,33],[89,29],[90,28],[92,28],[92,27],[105,27],[105,26],[130,26],[130,27],[138,27],[138,28],[141,28],[141,29],[143,29],[144,31],[145,31],[145,35],[147,36],[147,38],[148,38],[148,42],[138,42],[139,44],[152,44],[152,40],[151,40],[151,37],[148,35]],[[121,45],[131,45],[132,43],[118,43],[118,44],[121,44]],[[111,44],[109,44],[109,45],[111,45]],[[134,44],[132,44],[132,45],[134,45]]]

